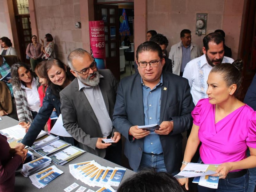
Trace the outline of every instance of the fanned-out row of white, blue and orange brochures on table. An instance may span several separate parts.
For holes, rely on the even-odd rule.
[[[77,180],[91,187],[119,186],[126,169],[104,167],[93,161],[69,164],[69,172]]]

